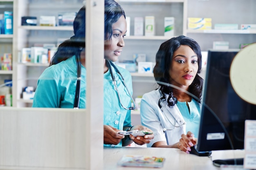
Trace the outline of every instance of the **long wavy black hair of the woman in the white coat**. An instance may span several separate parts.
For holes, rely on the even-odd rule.
[[[171,38],[166,42],[163,42],[159,47],[159,50],[156,54],[156,64],[153,70],[155,80],[157,84],[159,84],[159,90],[162,95],[166,97],[165,94],[168,94],[167,103],[168,106],[174,106],[177,104],[177,98],[173,96],[173,87],[161,84],[161,82],[169,83],[170,82],[170,74],[169,70],[171,68],[173,53],[181,46],[187,45],[189,46],[195,54],[198,56],[198,72],[193,80],[192,84],[189,86],[189,93],[192,93],[197,97],[197,101],[201,102],[202,97],[202,86],[203,79],[198,74],[201,73],[202,69],[202,54],[199,44],[184,35],[180,35],[175,38]]]

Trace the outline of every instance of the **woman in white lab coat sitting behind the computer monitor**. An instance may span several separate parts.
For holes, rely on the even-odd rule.
[[[200,124],[202,55],[195,40],[178,36],[161,44],[154,77],[159,88],[141,99],[141,124],[154,132],[148,147],[180,148],[189,153]]]

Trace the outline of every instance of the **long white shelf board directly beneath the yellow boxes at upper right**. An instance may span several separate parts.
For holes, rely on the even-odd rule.
[[[256,34],[256,30],[220,30],[220,29],[208,29],[208,30],[187,30],[187,33],[221,33],[221,34]]]

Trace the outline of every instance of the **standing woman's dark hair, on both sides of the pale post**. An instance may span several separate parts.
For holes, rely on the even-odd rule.
[[[104,39],[111,39],[112,25],[124,15],[124,9],[115,0],[105,0],[105,34]],[[77,13],[73,22],[74,36],[65,40],[58,46],[58,50],[52,57],[50,66],[58,64],[68,58],[79,55],[81,49],[85,48],[85,6]]]

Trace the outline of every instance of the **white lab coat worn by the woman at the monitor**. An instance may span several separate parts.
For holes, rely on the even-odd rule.
[[[166,141],[168,145],[172,145],[180,141],[181,135],[186,134],[186,123],[179,108],[175,104],[168,107],[167,101],[161,102],[161,108],[158,101],[162,97],[159,89],[151,91],[143,95],[140,105],[141,124],[153,130],[154,139],[150,140],[147,147],[151,147],[157,141]],[[168,97],[168,96],[166,96]],[[165,116],[164,116],[165,115]],[[174,127],[171,123],[175,126]],[[166,132],[164,132],[166,128]]]

